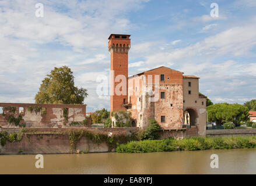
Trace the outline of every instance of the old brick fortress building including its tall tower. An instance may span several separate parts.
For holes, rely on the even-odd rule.
[[[129,37],[122,34],[108,37],[110,112],[130,112],[134,127],[145,128],[151,117],[163,130],[187,128],[204,136],[206,96],[199,94],[199,77],[184,76],[183,72],[164,66],[128,77]],[[115,126],[114,117],[112,120]]]

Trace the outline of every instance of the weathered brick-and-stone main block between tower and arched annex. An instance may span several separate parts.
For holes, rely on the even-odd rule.
[[[164,81],[160,81],[160,74],[164,74]],[[143,84],[146,82],[146,87],[152,87],[152,92],[154,92],[156,88],[155,75],[159,76],[159,99],[150,102],[149,99],[153,95],[146,92]],[[152,81],[150,81],[150,76]],[[158,79],[156,80],[158,81]],[[131,108],[128,110],[132,113],[138,127],[148,126],[149,117],[156,119],[164,129],[182,127],[183,73],[167,67],[160,67],[130,77],[128,84],[128,99],[131,101]],[[165,92],[164,99],[160,98],[160,92]],[[165,116],[164,122],[161,122],[161,116]]]

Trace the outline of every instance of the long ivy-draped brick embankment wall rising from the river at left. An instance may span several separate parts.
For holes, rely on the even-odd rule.
[[[0,154],[57,154],[115,151],[116,143],[132,138],[137,127],[129,128],[23,128],[21,140],[5,141]],[[19,128],[1,128],[19,135]],[[17,138],[17,136],[16,136]]]

